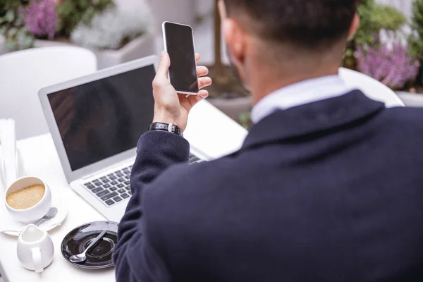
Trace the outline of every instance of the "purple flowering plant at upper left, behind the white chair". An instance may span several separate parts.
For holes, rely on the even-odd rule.
[[[45,36],[53,39],[56,33],[56,6],[54,0],[32,0],[25,8],[25,25],[35,36]]]

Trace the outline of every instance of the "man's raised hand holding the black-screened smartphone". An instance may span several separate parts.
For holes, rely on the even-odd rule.
[[[195,54],[196,61],[200,55]],[[153,122],[173,123],[185,131],[188,123],[188,114],[195,104],[209,96],[207,90],[200,90],[197,96],[190,95],[188,98],[183,94],[176,94],[175,88],[168,80],[168,70],[171,66],[171,59],[166,51],[161,53],[156,78],[153,80],[154,93],[154,119]],[[209,70],[205,66],[197,66],[198,83],[200,89],[212,84],[212,79],[204,77]]]

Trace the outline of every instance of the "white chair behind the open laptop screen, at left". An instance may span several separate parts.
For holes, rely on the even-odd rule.
[[[94,71],[96,56],[79,47],[35,48],[0,56],[0,118],[16,120],[18,140],[48,133],[38,90]]]

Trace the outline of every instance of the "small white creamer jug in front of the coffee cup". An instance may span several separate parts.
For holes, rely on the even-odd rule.
[[[18,238],[18,259],[25,269],[40,273],[51,264],[54,245],[49,234],[34,224],[28,225]]]

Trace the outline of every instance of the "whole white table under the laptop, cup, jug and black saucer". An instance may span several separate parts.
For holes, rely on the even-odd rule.
[[[221,157],[235,151],[242,144],[246,130],[227,118],[207,102],[200,103],[190,114],[185,137],[197,149],[210,157]],[[195,143],[195,144],[194,144]],[[38,176],[49,183],[54,197],[65,200],[68,216],[62,225],[49,231],[54,243],[54,259],[42,274],[24,269],[16,255],[16,237],[0,234],[0,273],[6,282],[23,281],[115,281],[114,269],[79,269],[61,255],[61,241],[73,228],[90,221],[106,220],[90,204],[71,190],[61,168],[51,135],[39,135],[18,142],[28,175]],[[0,203],[3,204],[3,203]],[[1,215],[0,215],[1,216]]]

